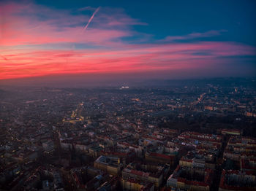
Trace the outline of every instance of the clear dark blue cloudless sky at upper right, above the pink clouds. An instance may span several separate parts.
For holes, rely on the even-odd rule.
[[[130,17],[148,23],[134,26],[136,31],[154,35],[182,36],[194,32],[226,30],[214,41],[232,41],[256,45],[256,1],[35,1],[54,9],[78,9],[80,7],[116,7],[124,9]]]

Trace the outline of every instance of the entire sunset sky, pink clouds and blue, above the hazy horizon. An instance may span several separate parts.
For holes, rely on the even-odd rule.
[[[0,1],[0,81],[256,76],[256,1]]]

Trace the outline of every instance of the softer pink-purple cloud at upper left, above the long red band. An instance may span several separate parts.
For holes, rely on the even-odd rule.
[[[67,11],[56,12],[55,10],[38,7],[34,4],[26,6],[7,4],[2,5],[1,9],[4,10],[1,12],[3,19],[0,23],[1,45],[65,42],[102,45],[113,42],[113,39],[131,35],[128,30],[101,28],[101,25],[106,24],[105,20],[104,22],[96,20],[97,27],[90,26],[89,30],[83,31],[83,27],[88,23],[89,16],[71,15]],[[41,15],[47,15],[46,20],[42,20],[38,12]],[[105,13],[102,13],[100,17],[104,16]],[[95,19],[97,18],[95,17]],[[129,22],[131,20],[126,15],[122,15],[118,19],[122,22],[124,20]],[[108,22],[110,22],[110,17]],[[118,20],[113,20],[113,22],[118,23]]]

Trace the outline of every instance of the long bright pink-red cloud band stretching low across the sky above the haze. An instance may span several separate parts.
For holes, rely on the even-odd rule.
[[[211,55],[195,55],[208,50]],[[243,50],[241,52],[241,50]],[[253,55],[252,47],[239,44],[203,42],[198,44],[158,44],[154,47],[133,45],[121,50],[12,50],[10,61],[1,61],[1,77],[9,78],[46,74],[108,73],[121,71],[152,71],[199,69],[215,64],[220,56]],[[6,54],[6,55],[7,55]]]

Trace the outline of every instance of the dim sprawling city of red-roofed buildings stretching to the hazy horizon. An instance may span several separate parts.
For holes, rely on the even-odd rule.
[[[255,190],[255,80],[1,90],[1,189]]]

